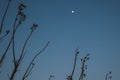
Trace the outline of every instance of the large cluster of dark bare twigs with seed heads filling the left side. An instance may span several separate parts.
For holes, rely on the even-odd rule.
[[[3,53],[0,53],[2,55],[0,57],[0,69],[3,66],[4,60],[6,59],[6,55],[7,55],[8,51],[9,51],[9,49],[12,49],[12,54],[11,55],[13,57],[14,68],[13,68],[11,74],[9,75],[9,80],[14,80],[15,75],[18,72],[19,66],[21,65],[23,59],[25,58],[25,55],[26,55],[25,49],[27,47],[27,43],[29,42],[33,32],[37,29],[38,24],[33,24],[32,27],[30,27],[30,32],[29,32],[27,38],[24,41],[24,44],[22,46],[21,51],[19,52],[20,55],[18,57],[16,57],[17,53],[16,53],[16,48],[15,48],[15,44],[16,44],[15,43],[15,39],[16,39],[15,34],[18,31],[18,28],[21,26],[21,24],[23,24],[23,22],[26,20],[26,15],[23,12],[24,9],[26,8],[26,5],[21,3],[18,6],[18,12],[17,12],[15,20],[13,22],[14,25],[13,25],[12,31],[6,30],[6,33],[3,34],[3,28],[4,28],[5,19],[6,19],[5,17],[6,17],[8,9],[9,9],[10,3],[11,3],[11,0],[8,0],[7,8],[6,8],[6,10],[5,10],[4,14],[3,14],[1,25],[0,25],[0,46],[2,46],[1,42],[11,32],[10,41],[8,42],[5,51]],[[49,44],[49,41],[47,42],[47,44],[40,51],[38,51],[38,53],[36,53],[33,56],[33,59],[31,59],[27,69],[23,73],[23,76],[22,76],[21,80],[25,80],[32,73],[32,69],[34,68],[34,65],[35,65],[35,63],[34,63],[35,59],[47,48],[48,44]]]

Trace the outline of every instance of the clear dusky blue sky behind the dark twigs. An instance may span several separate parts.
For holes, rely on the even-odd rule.
[[[21,46],[28,29],[33,23],[39,25],[27,45],[26,56],[16,80],[33,57],[47,41],[47,49],[36,59],[35,67],[28,80],[66,80],[71,74],[75,50],[79,49],[74,80],[81,71],[81,58],[87,53],[86,78],[84,80],[104,80],[107,72],[112,71],[112,80],[120,79],[120,1],[119,0],[12,0],[5,29],[9,29],[17,12],[18,2],[27,5],[24,10],[26,21],[16,35],[16,44]],[[0,0],[0,19],[7,0]],[[72,13],[72,11],[75,11]],[[8,26],[9,24],[9,26]],[[19,51],[19,46],[16,46]],[[2,50],[2,47],[0,47]],[[10,54],[5,64],[9,63]],[[8,62],[7,62],[8,60]],[[9,66],[11,68],[12,65]],[[5,66],[4,73],[10,73]],[[4,79],[4,78],[3,78]]]

